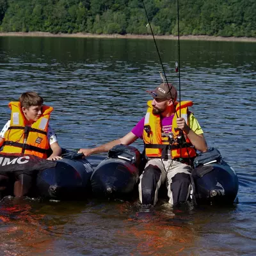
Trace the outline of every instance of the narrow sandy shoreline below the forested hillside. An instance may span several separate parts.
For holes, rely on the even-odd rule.
[[[123,39],[153,39],[152,35],[97,35],[92,33],[76,33],[76,34],[66,34],[58,33],[52,34],[49,32],[0,32],[0,36],[35,36],[35,37],[71,37],[71,38],[123,38]],[[163,40],[177,40],[178,36],[164,35],[157,36],[154,35],[156,39]],[[180,40],[202,40],[202,41],[226,41],[226,42],[256,42],[256,38],[252,37],[223,37],[223,36],[204,36],[204,35],[188,35],[180,36]]]

